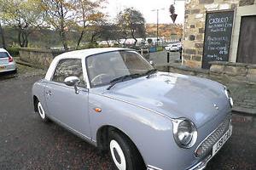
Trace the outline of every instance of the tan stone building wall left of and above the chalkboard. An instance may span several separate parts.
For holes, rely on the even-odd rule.
[[[256,4],[256,0],[188,0],[183,29],[183,65],[201,68],[206,11]]]

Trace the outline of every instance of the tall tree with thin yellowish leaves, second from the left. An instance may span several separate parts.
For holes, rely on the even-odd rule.
[[[41,0],[46,23],[59,32],[63,48],[67,47],[67,30],[73,26],[75,0]]]

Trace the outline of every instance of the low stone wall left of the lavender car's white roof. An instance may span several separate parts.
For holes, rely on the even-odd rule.
[[[52,59],[63,51],[38,48],[20,48],[20,60],[42,69],[48,69]]]

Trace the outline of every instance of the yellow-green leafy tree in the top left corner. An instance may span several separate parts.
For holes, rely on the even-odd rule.
[[[20,47],[27,47],[29,35],[43,23],[39,0],[0,0],[0,4],[3,23],[18,29]]]

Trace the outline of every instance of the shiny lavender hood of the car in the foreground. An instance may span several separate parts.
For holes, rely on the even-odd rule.
[[[170,118],[189,118],[197,127],[230,110],[223,85],[175,73],[157,72],[148,78],[120,82],[103,94]]]

